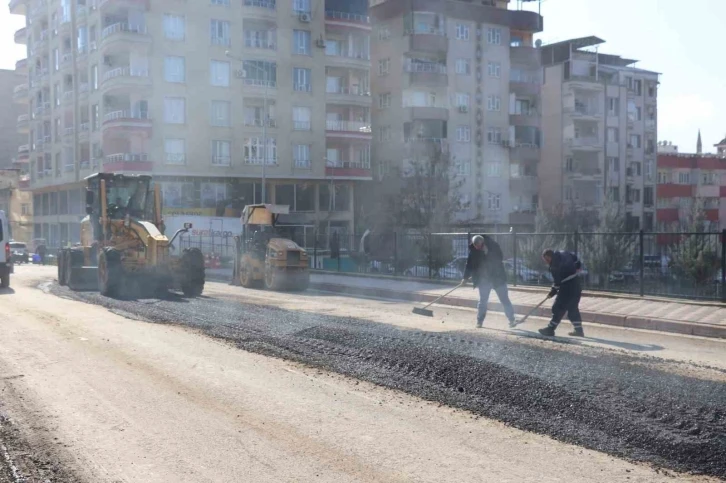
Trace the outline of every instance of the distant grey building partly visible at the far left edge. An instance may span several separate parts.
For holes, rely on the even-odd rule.
[[[18,62],[19,69],[0,69],[0,96],[2,99],[17,99],[6,104],[0,111],[0,168],[23,169],[28,164],[28,152],[18,147],[28,141],[28,79],[23,74],[24,61]]]

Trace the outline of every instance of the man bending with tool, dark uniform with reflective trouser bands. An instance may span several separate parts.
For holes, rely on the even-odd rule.
[[[552,337],[555,335],[557,326],[567,314],[575,330],[569,335],[573,337],[585,337],[582,331],[582,316],[580,315],[580,297],[582,296],[582,283],[579,273],[582,263],[572,252],[545,250],[542,259],[550,267],[553,285],[549,297],[556,297],[552,304],[552,320],[539,330],[539,333]]]

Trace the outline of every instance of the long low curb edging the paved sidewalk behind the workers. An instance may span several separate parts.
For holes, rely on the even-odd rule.
[[[207,280],[214,282],[229,282],[228,277],[208,276]],[[394,299],[409,302],[429,303],[436,300],[438,295],[431,295],[418,292],[403,292],[373,287],[349,287],[323,282],[311,282],[310,288],[313,290],[321,290],[325,292],[340,293],[352,296],[365,296],[383,299]],[[452,307],[476,308],[477,301],[474,299],[464,299],[460,297],[447,296],[442,298],[438,304],[450,305]],[[534,305],[514,305],[514,312],[518,315],[529,313]],[[489,302],[487,310],[492,312],[503,312],[502,305],[498,302]],[[699,337],[709,337],[714,339],[726,339],[726,327],[713,324],[695,324],[692,322],[684,322],[680,320],[659,319],[654,317],[643,316],[626,316],[618,314],[608,314],[601,312],[581,311],[583,322],[590,322],[601,325],[612,325],[615,327],[623,327],[628,329],[644,329],[655,330],[658,332],[669,332],[673,334],[694,335]],[[548,317],[550,309],[540,307],[533,316]]]

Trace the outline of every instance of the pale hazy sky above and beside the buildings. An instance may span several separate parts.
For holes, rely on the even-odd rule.
[[[705,151],[726,137],[726,0],[544,0],[542,15],[544,42],[596,35],[606,41],[601,52],[662,74],[659,140],[692,152],[699,128]],[[25,57],[25,46],[13,39],[23,22],[0,4],[0,68],[13,69]]]

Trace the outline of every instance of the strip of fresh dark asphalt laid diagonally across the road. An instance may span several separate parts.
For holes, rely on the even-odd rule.
[[[726,384],[654,369],[626,354],[595,348],[576,354],[558,350],[554,341],[552,348],[536,347],[206,297],[115,300],[57,286],[52,291],[563,442],[726,478]]]

